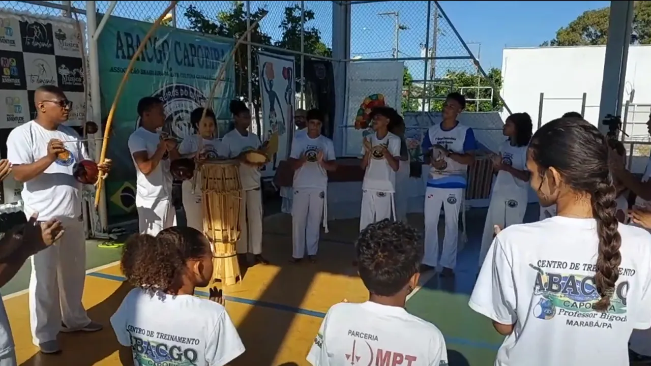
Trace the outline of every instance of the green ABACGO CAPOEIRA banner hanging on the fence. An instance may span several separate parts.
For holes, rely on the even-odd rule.
[[[106,118],[118,85],[152,23],[111,16],[98,39],[102,116]],[[135,212],[135,167],[127,145],[139,124],[137,104],[144,96],[165,103],[166,132],[178,139],[193,134],[189,115],[204,106],[217,71],[229,57],[234,41],[171,27],[159,27],[135,63],[113,117],[107,157],[113,169],[106,179],[107,210],[111,219]],[[213,108],[219,131],[229,124],[229,101],[235,91],[234,64],[227,65],[217,86]]]

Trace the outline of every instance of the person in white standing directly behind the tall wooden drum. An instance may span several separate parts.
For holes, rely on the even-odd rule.
[[[206,111],[206,117],[201,118],[204,108],[199,107],[190,113],[190,125],[197,132],[187,136],[178,147],[178,153],[184,158],[194,158],[197,163],[203,160],[215,160],[222,152],[221,142],[217,139],[217,119],[212,109]],[[199,154],[197,154],[199,152]],[[182,188],[183,208],[186,212],[187,226],[203,232],[203,209],[201,206],[201,187],[193,187],[193,183],[201,184],[201,176],[196,179],[184,180]],[[193,193],[194,191],[194,193]]]

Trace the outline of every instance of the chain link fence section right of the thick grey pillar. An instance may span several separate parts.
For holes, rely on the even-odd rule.
[[[467,111],[499,111],[501,70],[482,70],[481,44],[464,42],[436,1],[353,1],[351,62],[404,61],[402,111],[441,111],[446,94]]]

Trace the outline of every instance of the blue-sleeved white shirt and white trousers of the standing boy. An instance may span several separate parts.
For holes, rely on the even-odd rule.
[[[450,130],[443,130],[441,124],[429,128],[422,141],[422,151],[429,151],[434,145],[441,145],[450,152],[465,154],[477,150],[477,141],[472,128],[457,121]],[[441,205],[445,212],[445,236],[441,264],[445,268],[456,266],[459,212],[464,201],[467,165],[455,162],[449,156],[443,158],[443,169],[431,167],[425,190],[425,256],[422,263],[436,267],[439,264],[438,222]]]

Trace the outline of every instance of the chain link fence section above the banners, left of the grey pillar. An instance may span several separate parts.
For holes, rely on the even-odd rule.
[[[117,1],[111,10],[111,1],[96,1],[100,14],[110,12],[111,16],[151,23],[168,5],[169,1]],[[72,16],[87,21],[86,1],[1,0],[0,8],[36,15]],[[296,105],[309,107],[303,100],[303,83],[300,81],[303,64],[313,59],[331,59],[332,8],[331,1],[180,1],[163,25],[239,38],[251,21],[268,12],[258,29],[251,33],[250,54],[249,42],[245,41],[234,56],[235,94],[253,106],[256,119],[253,128],[260,134],[260,88],[255,77],[258,51],[296,57]],[[85,39],[88,40],[89,36]]]

